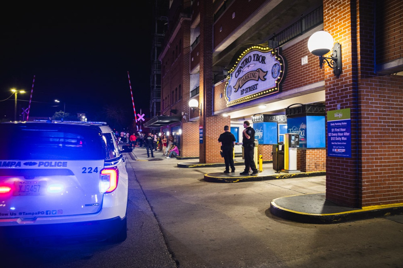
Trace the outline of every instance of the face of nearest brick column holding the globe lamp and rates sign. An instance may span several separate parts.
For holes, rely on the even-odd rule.
[[[357,53],[355,1],[324,0],[323,28],[341,44],[342,74],[324,67],[326,110],[351,109],[351,158],[326,157],[326,199],[347,207],[360,207],[357,139]]]

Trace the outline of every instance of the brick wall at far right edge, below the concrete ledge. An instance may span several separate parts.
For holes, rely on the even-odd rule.
[[[363,207],[403,203],[402,76],[361,80]]]

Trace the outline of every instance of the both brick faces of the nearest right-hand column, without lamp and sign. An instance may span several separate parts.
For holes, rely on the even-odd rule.
[[[325,68],[326,109],[336,110],[338,104],[351,109],[352,149],[351,158],[326,159],[326,198],[349,207],[403,203],[403,79],[374,73],[375,3],[324,1],[324,30],[343,52],[340,77]],[[390,10],[397,2],[382,5]],[[394,16],[382,19],[382,29],[395,29]],[[401,45],[398,36],[388,42]],[[392,55],[392,50],[385,53]]]

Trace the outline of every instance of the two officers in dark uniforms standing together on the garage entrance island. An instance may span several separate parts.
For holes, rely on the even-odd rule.
[[[253,160],[253,153],[255,147],[255,130],[250,126],[249,121],[243,122],[245,128],[242,132],[242,146],[243,154],[245,158],[245,170],[240,175],[249,175],[249,169],[252,170],[251,176],[258,175],[258,169],[256,168],[255,161]],[[229,173],[231,167],[231,173],[235,172],[233,148],[235,144],[235,136],[229,131],[228,126],[224,126],[224,133],[218,138],[218,142],[221,143],[222,157],[224,158],[225,170],[224,173]]]

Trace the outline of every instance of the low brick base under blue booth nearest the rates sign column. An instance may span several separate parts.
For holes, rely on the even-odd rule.
[[[326,149],[297,149],[297,170],[302,172],[326,170]]]

